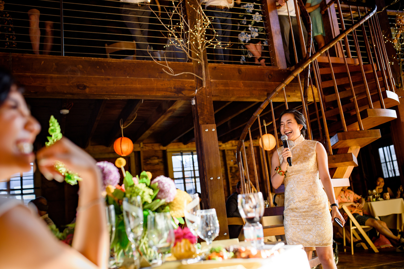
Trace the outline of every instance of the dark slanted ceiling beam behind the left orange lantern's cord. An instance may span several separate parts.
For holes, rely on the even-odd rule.
[[[137,110],[143,103],[143,100],[135,100],[135,99],[129,99],[124,108],[122,109],[121,113],[119,114],[119,117],[114,123],[114,126],[112,126],[111,131],[109,132],[109,136],[107,136],[107,140],[105,141],[106,146],[111,146],[116,138],[119,137],[121,133],[121,126],[120,126],[120,119],[123,121],[123,125],[126,126],[130,121],[133,120],[135,117]]]

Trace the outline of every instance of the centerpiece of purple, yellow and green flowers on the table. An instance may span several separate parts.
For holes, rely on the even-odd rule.
[[[132,249],[126,236],[122,200],[123,198],[141,197],[143,206],[143,234],[137,246],[137,250],[147,261],[151,261],[155,253],[149,247],[147,240],[147,215],[155,212],[170,212],[173,217],[173,225],[178,227],[178,223],[183,224],[184,200],[191,201],[192,198],[186,192],[177,190],[172,179],[165,176],[158,176],[151,180],[151,173],[143,171],[140,175],[133,177],[128,171],[123,180],[123,184],[106,186],[107,204],[113,204],[116,215],[115,238],[111,244],[112,252],[116,261],[121,260]],[[105,182],[105,180],[104,180]]]

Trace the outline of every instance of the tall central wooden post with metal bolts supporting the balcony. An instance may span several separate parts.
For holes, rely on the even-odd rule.
[[[185,4],[189,23],[196,21],[197,0],[188,0]],[[195,8],[193,8],[194,6]],[[193,57],[195,57],[193,53]],[[201,195],[205,207],[216,209],[220,231],[216,239],[229,239],[227,214],[223,189],[222,170],[220,167],[219,142],[213,110],[212,88],[210,86],[208,58],[206,50],[203,52],[205,63],[206,87],[202,88],[202,81],[195,77],[195,89],[198,89],[192,105],[194,115],[194,133],[196,153],[198,155],[199,178]],[[194,73],[202,77],[202,65],[193,61]]]

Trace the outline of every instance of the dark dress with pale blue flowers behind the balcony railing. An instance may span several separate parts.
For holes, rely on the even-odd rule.
[[[262,45],[268,45],[267,34],[264,29],[264,20],[261,4],[259,0],[246,0],[242,2],[238,15],[238,41],[239,48],[242,50],[241,63],[245,62],[245,56],[252,57],[252,53],[244,44],[257,44],[261,41]]]

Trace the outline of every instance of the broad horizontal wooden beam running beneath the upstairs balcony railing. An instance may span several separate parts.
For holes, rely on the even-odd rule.
[[[34,98],[190,100],[194,77],[170,76],[153,61],[0,53],[24,95]],[[175,72],[192,72],[192,63],[170,63]],[[261,102],[289,74],[274,67],[209,64],[213,101]],[[297,81],[285,88],[288,101],[299,101]],[[312,100],[309,92],[309,99]],[[282,94],[273,99],[282,102]]]

